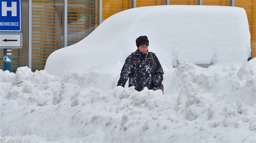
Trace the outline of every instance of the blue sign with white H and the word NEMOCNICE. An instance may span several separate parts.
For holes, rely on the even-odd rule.
[[[0,0],[0,32],[21,32],[21,11],[21,0]]]

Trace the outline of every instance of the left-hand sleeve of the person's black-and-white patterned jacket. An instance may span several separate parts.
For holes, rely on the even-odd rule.
[[[130,77],[130,69],[131,69],[131,60],[130,56],[126,58],[123,68],[121,70],[120,78],[117,82],[117,86],[123,86],[126,84],[126,81]]]

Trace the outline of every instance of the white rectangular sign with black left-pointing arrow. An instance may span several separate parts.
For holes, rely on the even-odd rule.
[[[21,48],[21,33],[0,33],[0,48]]]

